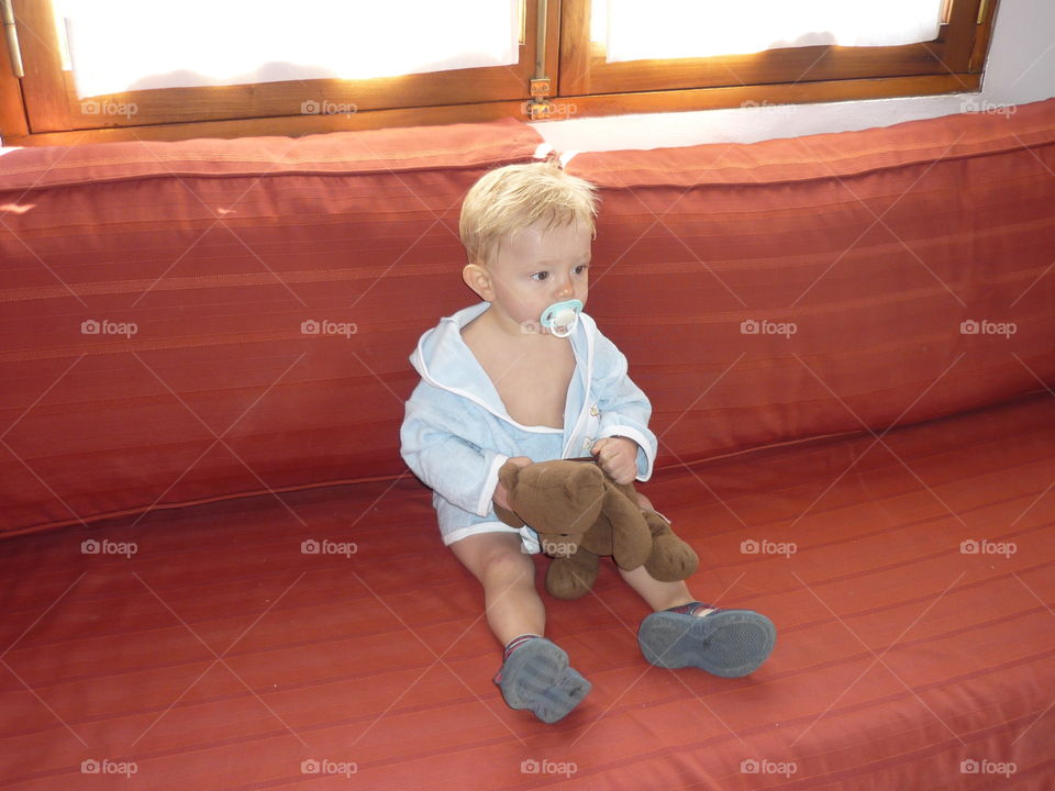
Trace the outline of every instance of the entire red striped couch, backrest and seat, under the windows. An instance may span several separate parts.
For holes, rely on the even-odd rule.
[[[0,789],[1053,787],[1055,101],[570,160],[642,490],[778,639],[653,668],[604,568],[552,726],[398,453],[462,196],[541,143],[0,156]]]

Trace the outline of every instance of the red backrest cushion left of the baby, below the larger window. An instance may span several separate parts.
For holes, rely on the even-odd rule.
[[[462,198],[540,143],[509,121],[5,151],[0,531],[406,472],[408,355],[474,299]]]

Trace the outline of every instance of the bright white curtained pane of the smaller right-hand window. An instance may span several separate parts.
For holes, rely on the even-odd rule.
[[[788,46],[891,46],[937,37],[942,0],[608,0],[590,37],[608,62],[736,55]]]

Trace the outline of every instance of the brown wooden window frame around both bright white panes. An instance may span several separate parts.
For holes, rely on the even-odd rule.
[[[879,1],[879,0],[876,0]],[[526,120],[535,73],[538,3],[525,0],[520,60],[373,80],[293,80],[166,88],[106,97],[134,113],[84,112],[63,71],[51,0],[13,0],[25,77],[11,74],[0,41],[0,131],[5,145],[116,140],[300,135],[434,123]],[[946,0],[933,42],[895,47],[812,46],[752,55],[608,64],[589,40],[590,0],[548,0],[543,67],[551,118],[845,101],[979,89],[998,0]],[[303,114],[304,101],[354,105]]]

